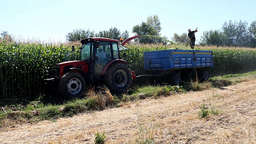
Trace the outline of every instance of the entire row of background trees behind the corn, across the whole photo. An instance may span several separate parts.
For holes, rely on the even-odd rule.
[[[135,43],[153,43],[153,44],[167,44],[168,38],[161,36],[161,22],[158,15],[151,15],[147,17],[145,22],[141,22],[136,26],[133,26],[132,33],[134,35],[151,35],[143,36],[135,39]],[[129,38],[129,32],[127,30],[121,32],[117,27],[111,27],[109,30],[103,30],[99,32],[91,31],[89,29],[77,29],[68,32],[66,40],[69,42],[79,41],[81,39],[90,37],[101,37],[120,40]],[[8,31],[3,31],[0,34],[1,41],[13,41],[12,35],[8,34]],[[171,38],[176,44],[185,44],[189,41],[188,34],[182,33],[181,35],[174,33]],[[252,21],[248,26],[246,21],[234,21],[229,20],[224,22],[221,29],[204,31],[200,38],[199,44],[202,46],[228,46],[228,47],[256,47],[256,20]]]

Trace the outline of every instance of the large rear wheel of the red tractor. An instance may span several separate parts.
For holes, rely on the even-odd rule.
[[[132,83],[131,70],[125,64],[113,64],[104,74],[104,83],[112,93],[123,93]]]

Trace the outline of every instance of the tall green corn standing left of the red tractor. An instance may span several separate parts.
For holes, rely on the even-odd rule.
[[[53,45],[0,44],[0,99],[30,99],[42,94],[42,80],[56,63],[74,60],[78,53]]]

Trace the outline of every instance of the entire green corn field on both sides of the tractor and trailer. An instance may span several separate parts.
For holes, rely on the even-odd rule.
[[[148,74],[144,70],[144,51],[168,49],[166,46],[128,46],[125,51],[129,67],[136,75]],[[250,49],[212,50],[213,73],[229,74],[256,70],[256,51]],[[57,63],[75,60],[79,50],[71,52],[65,45],[31,43],[0,44],[0,99],[34,99],[43,93],[42,80],[54,73]]]

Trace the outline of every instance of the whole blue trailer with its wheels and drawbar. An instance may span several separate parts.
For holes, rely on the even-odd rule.
[[[162,51],[144,52],[144,69],[150,75],[139,77],[162,77],[170,83],[181,82],[180,75],[191,72],[200,80],[208,80],[209,69],[213,67],[213,51],[168,49]]]

